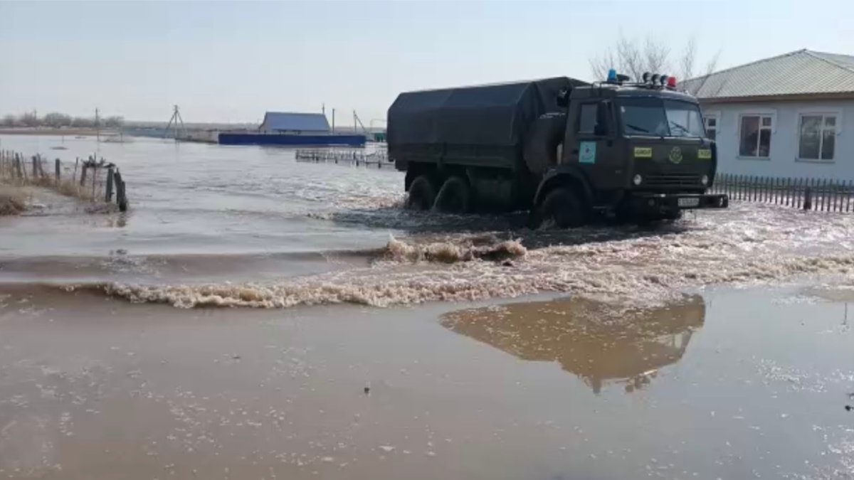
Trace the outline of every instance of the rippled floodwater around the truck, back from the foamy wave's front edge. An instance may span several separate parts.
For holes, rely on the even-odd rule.
[[[710,285],[854,284],[854,215],[735,203],[652,228],[529,231],[520,215],[406,212],[401,173],[304,163],[293,150],[2,140],[64,158],[100,148],[132,201],[128,214],[37,208],[0,220],[3,284],[175,307],[387,307],[541,292],[654,304]]]

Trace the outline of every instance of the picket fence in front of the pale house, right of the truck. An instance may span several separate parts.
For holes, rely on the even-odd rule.
[[[763,202],[821,212],[851,212],[854,181],[779,179],[718,173],[712,193],[725,193],[730,201]]]

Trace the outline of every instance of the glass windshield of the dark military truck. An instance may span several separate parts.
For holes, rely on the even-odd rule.
[[[699,106],[661,98],[623,98],[619,102],[626,135],[705,137]]]

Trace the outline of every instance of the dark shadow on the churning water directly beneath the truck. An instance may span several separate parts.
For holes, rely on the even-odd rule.
[[[325,216],[325,220],[342,226],[396,230],[416,236],[488,233],[492,241],[518,240],[528,249],[660,237],[680,234],[696,228],[690,224],[690,220],[646,225],[619,224],[601,220],[593,225],[573,230],[560,230],[549,226],[531,230],[526,225],[528,214],[523,212],[500,215],[448,215],[412,212],[396,206],[349,209],[329,214]]]

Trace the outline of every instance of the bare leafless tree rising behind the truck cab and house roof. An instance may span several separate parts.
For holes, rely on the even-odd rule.
[[[618,73],[626,73],[634,80],[640,80],[643,73],[669,73],[674,70],[671,50],[657,38],[647,35],[642,41],[626,38],[622,34],[617,43],[590,59],[590,70],[596,79],[605,79],[608,70],[614,68]],[[720,53],[715,54],[706,64],[705,76],[714,72]],[[685,49],[676,59],[676,70],[681,79],[693,79],[697,61],[697,40],[689,38]]]

